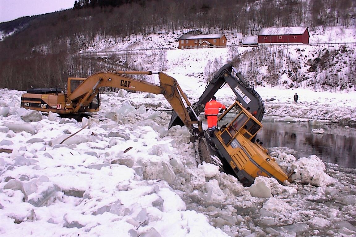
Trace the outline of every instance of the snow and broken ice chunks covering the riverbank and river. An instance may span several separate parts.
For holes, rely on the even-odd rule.
[[[197,101],[189,95],[204,86],[174,77]],[[271,119],[355,120],[355,93],[256,90]],[[11,150],[0,153],[1,236],[356,236],[354,169],[272,147],[296,171],[293,182],[260,177],[243,187],[197,164],[188,130],[167,130],[161,95],[107,93],[97,114],[77,122],[20,108],[21,93],[0,93],[0,147]],[[230,89],[218,98],[229,105]]]

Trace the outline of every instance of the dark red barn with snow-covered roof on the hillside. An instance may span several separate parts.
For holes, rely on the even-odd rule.
[[[303,43],[309,44],[308,27],[269,27],[258,33],[258,44]]]

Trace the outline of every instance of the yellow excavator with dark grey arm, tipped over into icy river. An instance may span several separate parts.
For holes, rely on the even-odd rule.
[[[224,65],[215,74],[199,101],[192,106],[190,116],[194,118],[193,114],[203,112],[206,102],[224,84],[230,86],[236,100],[219,116],[219,129],[212,136],[204,131],[197,140],[199,161],[218,165],[221,171],[232,174],[246,186],[250,186],[257,176],[274,177],[279,183],[288,181],[287,174],[256,139],[265,112],[263,101],[232,65]],[[169,128],[175,125],[183,126],[184,123],[174,112]]]

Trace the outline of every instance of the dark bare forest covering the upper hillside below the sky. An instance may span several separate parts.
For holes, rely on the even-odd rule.
[[[356,25],[355,9],[354,0],[79,0],[73,9],[0,24],[0,87],[65,87],[69,76],[103,70],[77,54],[97,40],[183,29],[248,35],[271,26],[347,28]],[[135,68],[122,63],[117,70]]]

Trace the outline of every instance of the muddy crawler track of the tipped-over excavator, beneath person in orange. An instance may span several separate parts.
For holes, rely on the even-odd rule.
[[[195,155],[198,164],[203,162],[212,163],[219,167],[220,172],[224,172],[223,163],[219,159],[218,151],[215,149],[215,146],[206,131],[204,131],[203,136],[196,141]]]

